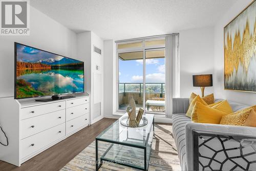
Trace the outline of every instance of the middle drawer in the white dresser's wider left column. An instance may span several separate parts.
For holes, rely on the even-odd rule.
[[[36,116],[20,121],[20,137],[24,139],[65,122],[65,110]]]

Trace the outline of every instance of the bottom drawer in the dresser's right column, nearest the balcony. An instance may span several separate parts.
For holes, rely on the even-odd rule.
[[[67,135],[89,123],[89,114],[82,115],[66,123]]]

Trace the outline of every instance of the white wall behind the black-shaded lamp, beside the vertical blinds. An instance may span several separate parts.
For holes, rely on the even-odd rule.
[[[181,30],[180,33],[180,97],[192,92],[201,95],[199,87],[193,87],[192,75],[214,74],[214,30],[212,27]],[[214,84],[215,87],[215,84]],[[214,87],[205,88],[205,95]]]

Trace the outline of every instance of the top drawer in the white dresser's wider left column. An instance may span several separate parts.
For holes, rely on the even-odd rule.
[[[36,105],[29,108],[23,108],[20,110],[20,119],[27,119],[42,114],[47,114],[55,111],[59,111],[66,108],[66,102],[60,101],[51,104]]]

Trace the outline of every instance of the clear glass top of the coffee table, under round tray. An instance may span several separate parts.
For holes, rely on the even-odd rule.
[[[124,116],[127,116],[127,114]],[[118,119],[98,135],[96,139],[117,144],[145,147],[150,136],[154,115],[145,114],[143,117],[146,117],[148,121],[147,125],[143,127],[125,127],[120,124],[120,119]]]

